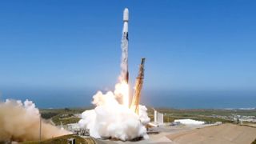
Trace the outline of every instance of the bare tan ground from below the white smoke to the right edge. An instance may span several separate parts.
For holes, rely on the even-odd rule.
[[[96,140],[99,144],[170,143],[170,144],[250,144],[256,138],[256,128],[222,124],[219,126],[162,126],[159,134],[150,134],[149,139],[137,142]]]

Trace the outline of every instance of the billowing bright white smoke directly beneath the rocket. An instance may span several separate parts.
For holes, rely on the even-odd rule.
[[[139,115],[127,106],[119,104],[113,92],[98,91],[92,102],[96,108],[82,113],[78,122],[82,128],[90,129],[94,138],[118,138],[122,141],[138,137],[148,138],[145,125],[150,122],[146,106],[139,106]]]

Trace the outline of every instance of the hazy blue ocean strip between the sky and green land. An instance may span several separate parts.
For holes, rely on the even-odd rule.
[[[29,99],[38,108],[92,107],[98,90],[2,90],[0,100]],[[105,92],[103,90],[103,92]],[[145,90],[141,104],[174,109],[252,109],[255,91]]]

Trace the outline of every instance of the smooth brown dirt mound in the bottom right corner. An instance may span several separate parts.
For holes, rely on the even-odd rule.
[[[233,124],[223,124],[220,126],[207,126],[202,129],[170,134],[166,137],[169,138],[172,143],[179,144],[250,144],[256,138],[256,128]]]

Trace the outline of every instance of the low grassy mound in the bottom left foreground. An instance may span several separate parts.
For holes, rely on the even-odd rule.
[[[68,138],[74,138],[75,139],[75,143],[81,143],[81,144],[95,144],[95,140],[94,138],[81,138],[78,135],[74,135],[74,134],[69,134],[69,135],[63,135],[60,137],[56,137],[56,138],[50,138],[50,139],[46,139],[43,141],[30,141],[30,142],[22,142],[22,144],[48,144],[48,143],[54,143],[54,144],[62,144],[62,143],[67,143],[68,142]]]

